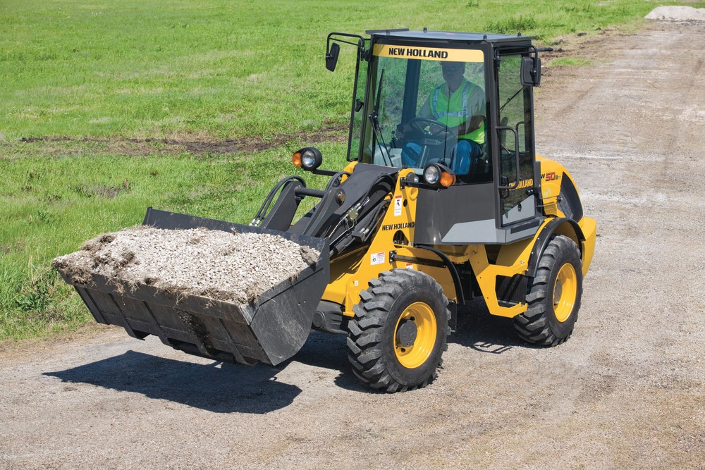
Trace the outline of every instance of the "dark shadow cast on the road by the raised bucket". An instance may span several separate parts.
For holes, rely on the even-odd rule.
[[[264,414],[291,404],[301,389],[276,381],[278,369],[212,362],[197,364],[128,351],[45,376],[135,392],[215,413]]]

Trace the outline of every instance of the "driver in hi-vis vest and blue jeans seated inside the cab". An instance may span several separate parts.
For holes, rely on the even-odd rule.
[[[450,162],[446,164],[455,174],[467,175],[472,161],[482,153],[485,140],[485,94],[481,87],[465,78],[464,62],[441,62],[441,70],[445,81],[429,94],[417,117],[442,124],[431,124],[429,132],[439,136],[443,132],[446,142],[454,144]],[[403,139],[410,130],[408,123],[400,125],[396,137]],[[407,142],[401,153],[403,166],[417,166],[421,151],[420,144]]]

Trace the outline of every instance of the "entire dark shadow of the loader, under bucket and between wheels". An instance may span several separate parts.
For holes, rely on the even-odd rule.
[[[517,338],[510,319],[491,316],[484,302],[473,301],[458,311],[450,344],[490,354],[513,347],[532,347]],[[468,351],[468,353],[472,353]],[[335,384],[344,390],[374,393],[355,377],[348,361],[345,335],[312,331],[302,349],[278,366],[241,366],[214,361],[198,364],[127,351],[90,364],[44,375],[64,383],[87,383],[135,392],[216,413],[264,414],[291,404],[302,391],[276,376],[293,362],[338,371]],[[266,397],[266,400],[263,398]]]

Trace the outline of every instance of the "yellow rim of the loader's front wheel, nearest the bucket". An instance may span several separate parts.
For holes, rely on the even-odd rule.
[[[394,327],[394,352],[407,369],[421,366],[436,344],[436,316],[424,302],[411,304]]]

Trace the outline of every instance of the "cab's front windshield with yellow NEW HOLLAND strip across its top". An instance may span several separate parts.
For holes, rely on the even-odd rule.
[[[489,175],[483,52],[376,44],[373,54],[363,160]]]

